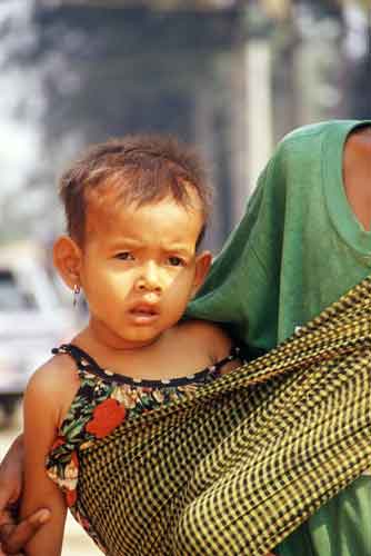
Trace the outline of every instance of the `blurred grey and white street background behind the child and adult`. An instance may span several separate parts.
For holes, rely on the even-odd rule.
[[[217,196],[218,252],[274,143],[371,118],[369,0],[0,0],[0,456],[30,373],[86,318],[51,267],[56,182],[90,142],[171,132]],[[63,556],[98,554],[77,526]]]

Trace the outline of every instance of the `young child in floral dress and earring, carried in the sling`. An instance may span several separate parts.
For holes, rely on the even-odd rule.
[[[101,143],[63,175],[60,195],[68,235],[54,265],[74,298],[83,290],[90,320],[26,391],[22,515],[51,510],[30,556],[61,553],[81,450],[238,365],[220,328],[181,320],[211,264],[199,250],[210,193],[194,153],[160,137]],[[74,516],[98,542],[89,516]]]

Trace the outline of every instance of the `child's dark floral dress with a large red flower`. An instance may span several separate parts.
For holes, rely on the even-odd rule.
[[[123,420],[161,404],[170,404],[184,396],[192,397],[199,386],[215,380],[227,363],[240,359],[240,349],[233,347],[228,357],[194,375],[166,380],[133,379],[102,369],[92,357],[72,344],[54,348],[52,353],[68,354],[74,359],[80,386],[48,455],[47,473],[63,490],[74,518],[104,552],[88,517],[77,508],[79,454],[96,439],[112,433]]]

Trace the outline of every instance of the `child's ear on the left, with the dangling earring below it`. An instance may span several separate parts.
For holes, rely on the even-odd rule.
[[[53,262],[66,286],[80,286],[81,249],[68,236],[60,236],[53,246]]]

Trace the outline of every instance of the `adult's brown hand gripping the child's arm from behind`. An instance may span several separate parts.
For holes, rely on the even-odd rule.
[[[19,555],[50,512],[40,508],[20,523],[18,507],[22,492],[23,441],[18,437],[0,465],[0,556]]]

